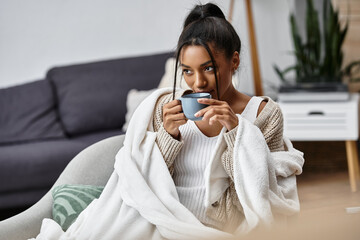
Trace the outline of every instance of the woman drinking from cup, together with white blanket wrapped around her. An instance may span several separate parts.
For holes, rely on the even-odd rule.
[[[216,5],[196,6],[176,57],[191,90],[212,95],[199,100],[202,120],[185,118],[183,90],[152,93],[99,199],[66,232],[44,219],[37,239],[225,239],[297,213],[303,155],[283,137],[276,103],[232,85],[240,47]]]

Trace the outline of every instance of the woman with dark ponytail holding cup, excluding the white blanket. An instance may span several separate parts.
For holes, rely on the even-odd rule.
[[[209,106],[195,115],[203,119],[193,122],[182,113],[181,102],[174,99],[174,93],[164,95],[157,103],[154,118],[156,142],[173,176],[180,202],[205,225],[227,231],[236,228],[244,218],[233,182],[238,117],[262,131],[270,151],[284,150],[283,117],[278,105],[267,97],[249,97],[232,84],[240,51],[240,38],[222,11],[211,3],[196,6],[185,20],[176,62],[193,92],[208,92],[213,98],[198,100]],[[222,189],[218,201],[205,207],[204,172],[223,128],[226,148],[221,162],[230,184]]]

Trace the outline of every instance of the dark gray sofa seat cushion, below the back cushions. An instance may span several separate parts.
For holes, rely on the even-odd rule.
[[[68,162],[87,146],[66,139],[0,146],[0,195],[50,188]]]

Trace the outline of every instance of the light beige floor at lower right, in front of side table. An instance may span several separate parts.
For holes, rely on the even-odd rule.
[[[245,239],[360,240],[360,182],[358,184],[358,192],[352,193],[347,172],[299,176],[301,212],[298,218],[286,228],[258,231]],[[347,209],[358,212],[348,213]]]

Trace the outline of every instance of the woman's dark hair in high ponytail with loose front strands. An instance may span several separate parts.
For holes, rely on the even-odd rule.
[[[224,52],[225,57],[228,59],[231,59],[235,51],[240,53],[241,49],[241,41],[235,29],[225,19],[221,9],[213,3],[196,5],[185,19],[184,29],[179,37],[176,49],[173,99],[175,98],[179,56],[184,46],[203,46],[209,53],[214,65],[216,91],[219,97],[217,69],[209,44],[215,50]]]

